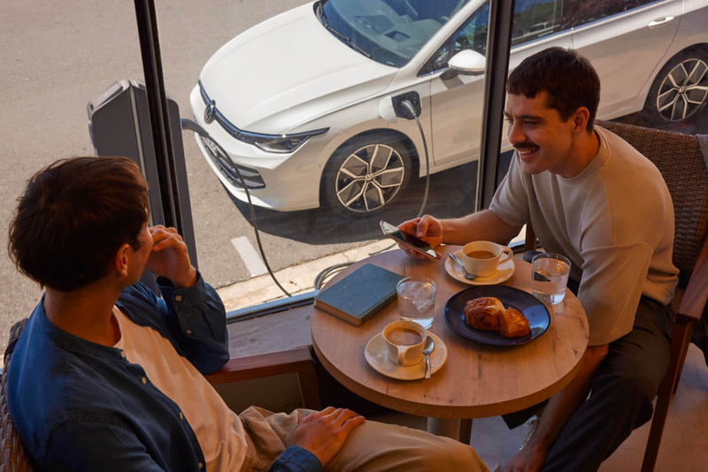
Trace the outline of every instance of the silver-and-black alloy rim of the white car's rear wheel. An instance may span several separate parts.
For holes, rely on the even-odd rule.
[[[657,94],[657,110],[666,121],[682,121],[700,109],[708,96],[708,65],[689,58],[675,65]]]

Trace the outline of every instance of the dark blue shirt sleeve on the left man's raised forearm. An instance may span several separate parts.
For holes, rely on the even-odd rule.
[[[155,297],[156,303],[184,356],[203,374],[223,367],[229,359],[227,313],[216,290],[199,272],[188,288],[163,277],[158,287],[162,300]]]

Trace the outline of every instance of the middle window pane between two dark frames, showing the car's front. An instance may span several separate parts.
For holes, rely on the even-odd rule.
[[[200,269],[216,278],[227,308],[283,296],[265,269],[236,170],[249,187],[267,263],[289,293],[311,291],[329,266],[390,247],[379,221],[418,216],[428,168],[426,213],[474,211],[484,78],[423,77],[419,64],[436,49],[443,52],[435,69],[446,64],[450,41],[440,38],[471,17],[473,42],[484,50],[486,4],[270,1],[222,9],[195,13],[221,34],[190,55],[188,76],[185,38],[196,41],[199,28],[182,29],[170,21],[173,9],[158,3],[167,88],[180,90],[182,118],[211,135],[185,132],[183,141]],[[418,125],[404,118],[405,100],[419,110],[427,156]]]

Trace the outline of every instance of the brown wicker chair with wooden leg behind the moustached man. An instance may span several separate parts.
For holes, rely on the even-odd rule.
[[[701,319],[708,298],[708,169],[696,136],[598,121],[650,159],[661,171],[673,200],[675,236],[673,264],[681,283],[673,297],[676,314],[671,337],[671,362],[658,392],[642,472],[651,472],[673,393],[681,380],[693,325]],[[708,159],[708,156],[706,156]],[[524,250],[534,250],[534,229],[527,225]]]

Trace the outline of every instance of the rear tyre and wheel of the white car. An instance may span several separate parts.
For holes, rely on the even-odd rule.
[[[708,103],[708,53],[682,51],[658,72],[644,111],[661,122],[686,122]]]

